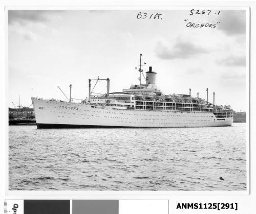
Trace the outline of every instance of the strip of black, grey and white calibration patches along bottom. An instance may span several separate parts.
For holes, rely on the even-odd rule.
[[[168,200],[6,200],[5,214],[168,214]]]

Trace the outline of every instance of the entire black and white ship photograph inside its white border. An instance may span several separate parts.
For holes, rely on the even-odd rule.
[[[248,191],[248,10],[7,9],[9,191]]]

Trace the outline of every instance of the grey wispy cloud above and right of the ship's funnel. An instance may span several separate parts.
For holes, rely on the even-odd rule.
[[[207,49],[178,37],[173,43],[158,40],[155,45],[156,55],[161,59],[191,58],[209,53]]]

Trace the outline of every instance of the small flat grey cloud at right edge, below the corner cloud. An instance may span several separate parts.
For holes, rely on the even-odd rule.
[[[230,55],[226,58],[217,59],[216,63],[218,65],[224,65],[224,66],[246,66],[246,56]]]

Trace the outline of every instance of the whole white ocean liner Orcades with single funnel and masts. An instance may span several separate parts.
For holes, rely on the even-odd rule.
[[[82,127],[215,127],[231,126],[233,111],[230,106],[213,103],[189,94],[165,95],[156,86],[156,72],[150,66],[145,83],[140,54],[138,68],[140,83],[122,92],[110,93],[110,79],[89,79],[89,97],[80,102],[32,97],[37,128]],[[105,80],[105,94],[93,92],[98,81]],[[96,81],[91,90],[92,81]],[[67,96],[66,96],[67,97]]]

